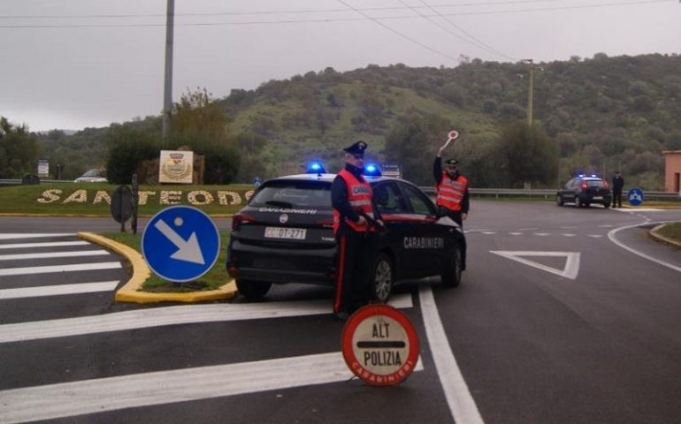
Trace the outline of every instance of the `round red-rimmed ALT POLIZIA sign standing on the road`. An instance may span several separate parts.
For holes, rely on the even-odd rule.
[[[387,305],[367,305],[352,314],[343,327],[341,346],[353,374],[373,386],[404,381],[420,352],[407,315]]]

